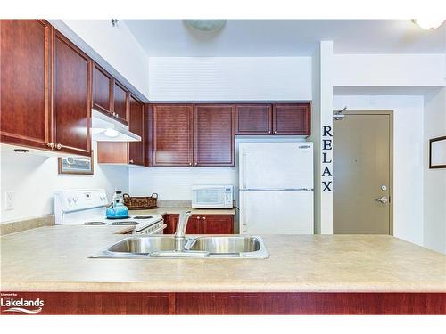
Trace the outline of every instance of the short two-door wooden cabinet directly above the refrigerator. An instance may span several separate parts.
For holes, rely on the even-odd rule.
[[[310,135],[310,103],[236,104],[235,134]]]

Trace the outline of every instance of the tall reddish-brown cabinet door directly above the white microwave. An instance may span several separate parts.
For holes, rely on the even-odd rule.
[[[197,104],[194,110],[194,166],[234,166],[234,104]]]

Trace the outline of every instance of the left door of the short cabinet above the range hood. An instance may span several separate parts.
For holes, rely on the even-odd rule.
[[[96,63],[93,64],[93,108],[111,113],[113,78]]]

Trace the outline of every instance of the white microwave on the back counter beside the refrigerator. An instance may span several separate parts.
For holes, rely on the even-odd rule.
[[[192,208],[232,208],[234,189],[232,185],[193,185]]]

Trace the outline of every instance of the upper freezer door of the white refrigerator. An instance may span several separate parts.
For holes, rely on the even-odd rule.
[[[313,143],[240,143],[240,189],[313,189]]]

